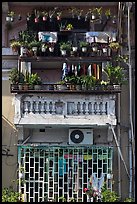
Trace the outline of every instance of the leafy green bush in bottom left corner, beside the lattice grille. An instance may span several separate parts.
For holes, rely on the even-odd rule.
[[[20,196],[21,194],[14,191],[12,186],[2,189],[2,202],[20,202]]]

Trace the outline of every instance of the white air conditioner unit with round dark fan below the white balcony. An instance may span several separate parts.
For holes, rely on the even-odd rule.
[[[93,144],[92,129],[69,129],[69,144],[90,145]]]

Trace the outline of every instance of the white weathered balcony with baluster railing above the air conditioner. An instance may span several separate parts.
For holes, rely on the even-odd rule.
[[[23,92],[23,91],[22,91]],[[15,95],[15,125],[116,125],[116,94],[89,91],[26,92]]]

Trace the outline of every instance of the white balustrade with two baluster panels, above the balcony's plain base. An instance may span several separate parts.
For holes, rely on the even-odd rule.
[[[115,95],[28,94],[15,96],[15,118],[114,116]]]

